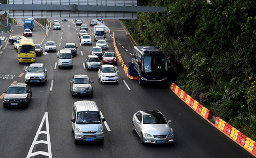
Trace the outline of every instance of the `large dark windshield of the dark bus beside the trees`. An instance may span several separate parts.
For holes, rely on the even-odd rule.
[[[161,55],[147,55],[143,56],[142,73],[162,73],[167,72],[167,58]]]

